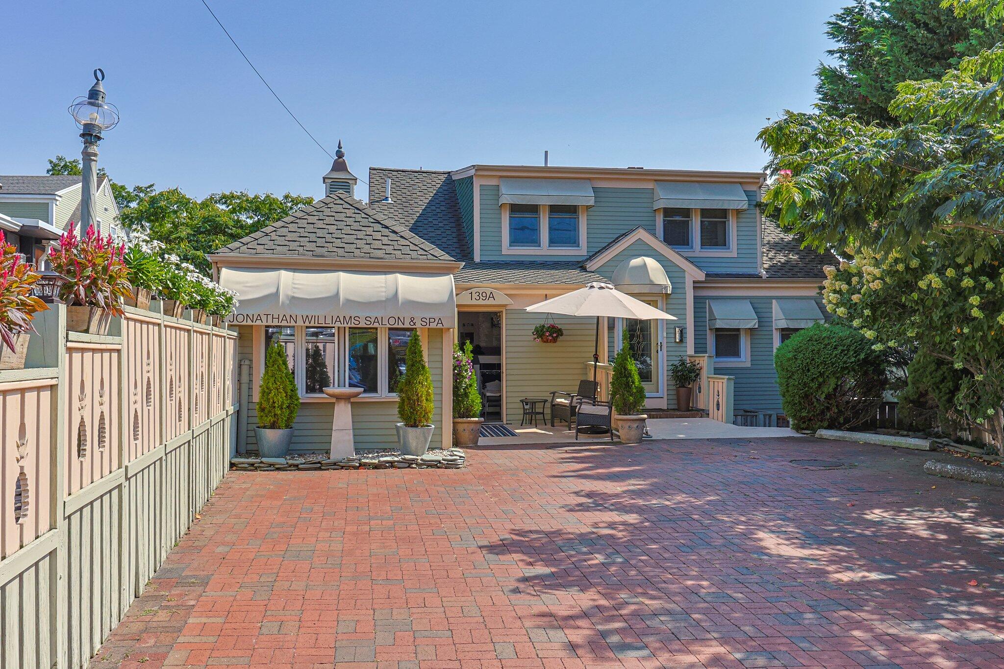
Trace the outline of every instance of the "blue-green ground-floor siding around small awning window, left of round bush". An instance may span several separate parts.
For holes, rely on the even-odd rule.
[[[710,334],[708,332],[708,300],[715,298],[738,298],[749,300],[756,312],[759,327],[750,332],[750,365],[748,367],[731,367],[715,364],[715,373],[736,378],[733,394],[733,407],[736,411],[742,409],[758,409],[761,411],[780,411],[781,394],[777,388],[777,372],[774,370],[774,297],[748,297],[741,292],[731,295],[716,295],[714,297],[697,297],[694,299],[694,352],[708,353]],[[778,296],[790,298],[791,296]],[[806,296],[812,297],[812,296]],[[822,301],[818,296],[814,299],[819,303],[823,316],[828,316]]]

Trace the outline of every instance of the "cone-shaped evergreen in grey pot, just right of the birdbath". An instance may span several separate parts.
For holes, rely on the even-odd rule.
[[[405,455],[424,455],[429,450],[433,420],[433,377],[422,357],[422,338],[416,332],[408,342],[405,375],[398,383],[398,445]]]

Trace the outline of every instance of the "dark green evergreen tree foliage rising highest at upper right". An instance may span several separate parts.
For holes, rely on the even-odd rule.
[[[816,69],[819,108],[835,116],[896,124],[889,105],[902,81],[941,77],[999,35],[979,16],[955,16],[941,0],[855,0],[826,23],[837,46]]]

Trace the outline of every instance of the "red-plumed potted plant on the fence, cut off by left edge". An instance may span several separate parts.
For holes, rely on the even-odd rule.
[[[31,294],[38,274],[0,232],[0,369],[24,369],[35,313],[48,307]]]

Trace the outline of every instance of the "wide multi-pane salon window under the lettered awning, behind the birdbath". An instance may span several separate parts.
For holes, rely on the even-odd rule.
[[[324,388],[362,388],[362,396],[393,397],[405,373],[414,328],[264,328],[264,345],[279,342],[303,397],[325,397]],[[264,369],[264,350],[261,350]]]

